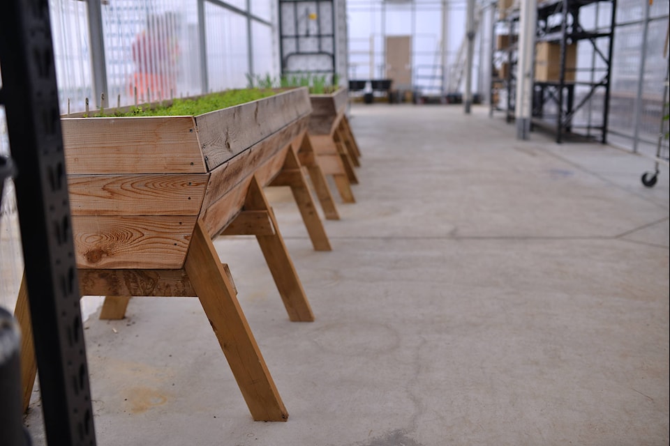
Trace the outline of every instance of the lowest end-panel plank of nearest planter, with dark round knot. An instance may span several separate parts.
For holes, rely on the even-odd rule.
[[[184,265],[194,216],[72,217],[78,268],[174,269]]]

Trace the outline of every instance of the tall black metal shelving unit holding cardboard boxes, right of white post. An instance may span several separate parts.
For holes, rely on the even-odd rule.
[[[595,3],[609,5],[609,24],[603,28],[583,26],[580,21],[581,9]],[[553,120],[557,143],[566,134],[607,141],[615,17],[616,0],[549,0],[537,6],[537,42],[560,45],[560,70],[556,80],[534,82],[533,123],[546,125]],[[567,68],[567,47],[578,42],[590,43],[595,57],[589,66]],[[589,79],[579,79],[580,73],[587,73]],[[589,103],[586,123],[574,123],[576,114]],[[551,114],[546,112],[549,105],[553,105]],[[593,114],[600,114],[595,123]]]

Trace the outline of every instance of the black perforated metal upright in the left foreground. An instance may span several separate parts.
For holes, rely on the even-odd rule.
[[[0,66],[47,443],[95,445],[47,0],[2,3]]]

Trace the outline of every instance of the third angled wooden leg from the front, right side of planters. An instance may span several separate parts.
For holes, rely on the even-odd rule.
[[[302,215],[302,220],[305,223],[314,249],[316,251],[332,250],[326,230],[323,227],[316,206],[314,206],[307,180],[302,173],[298,158],[292,150],[286,153],[284,165],[270,185],[289,186],[291,188],[293,198],[298,205],[300,215]]]

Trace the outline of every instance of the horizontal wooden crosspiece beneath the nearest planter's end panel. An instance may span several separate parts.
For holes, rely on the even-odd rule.
[[[184,270],[78,270],[82,295],[195,297]]]

